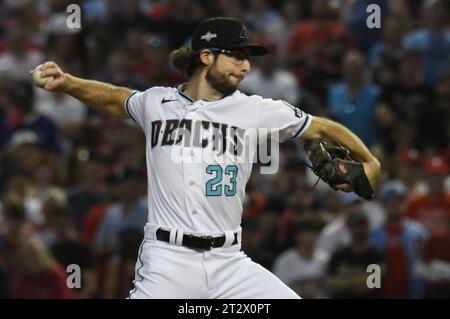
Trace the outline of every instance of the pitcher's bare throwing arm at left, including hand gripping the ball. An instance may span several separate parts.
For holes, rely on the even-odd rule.
[[[114,117],[128,117],[124,102],[132,90],[114,86],[108,83],[85,80],[68,73],[52,61],[39,66],[43,77],[51,77],[43,87],[51,92],[64,92],[70,94],[81,102]]]

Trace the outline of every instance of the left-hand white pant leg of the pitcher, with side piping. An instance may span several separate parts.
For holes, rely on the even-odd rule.
[[[201,253],[144,239],[136,261],[130,299],[205,298]]]

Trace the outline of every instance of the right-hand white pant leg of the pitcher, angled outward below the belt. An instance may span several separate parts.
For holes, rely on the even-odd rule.
[[[208,275],[214,276],[212,298],[219,299],[301,299],[270,271],[252,261],[243,252],[233,256],[213,253],[214,266]]]

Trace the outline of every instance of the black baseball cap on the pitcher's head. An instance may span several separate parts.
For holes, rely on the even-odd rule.
[[[192,36],[191,48],[239,49],[247,48],[251,55],[264,55],[268,50],[250,42],[247,29],[241,20],[229,17],[215,17],[204,20]]]

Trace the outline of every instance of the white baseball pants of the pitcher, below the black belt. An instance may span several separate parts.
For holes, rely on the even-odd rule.
[[[300,299],[240,251],[240,240],[199,251],[156,240],[156,228],[145,227],[130,299]]]

